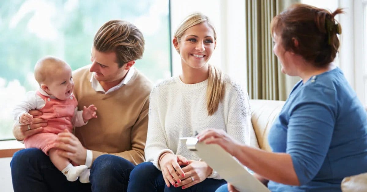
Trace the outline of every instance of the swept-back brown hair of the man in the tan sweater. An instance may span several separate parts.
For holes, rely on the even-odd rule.
[[[99,28],[94,36],[93,46],[100,52],[116,53],[119,68],[129,61],[143,56],[144,37],[133,24],[123,20],[111,20]]]

